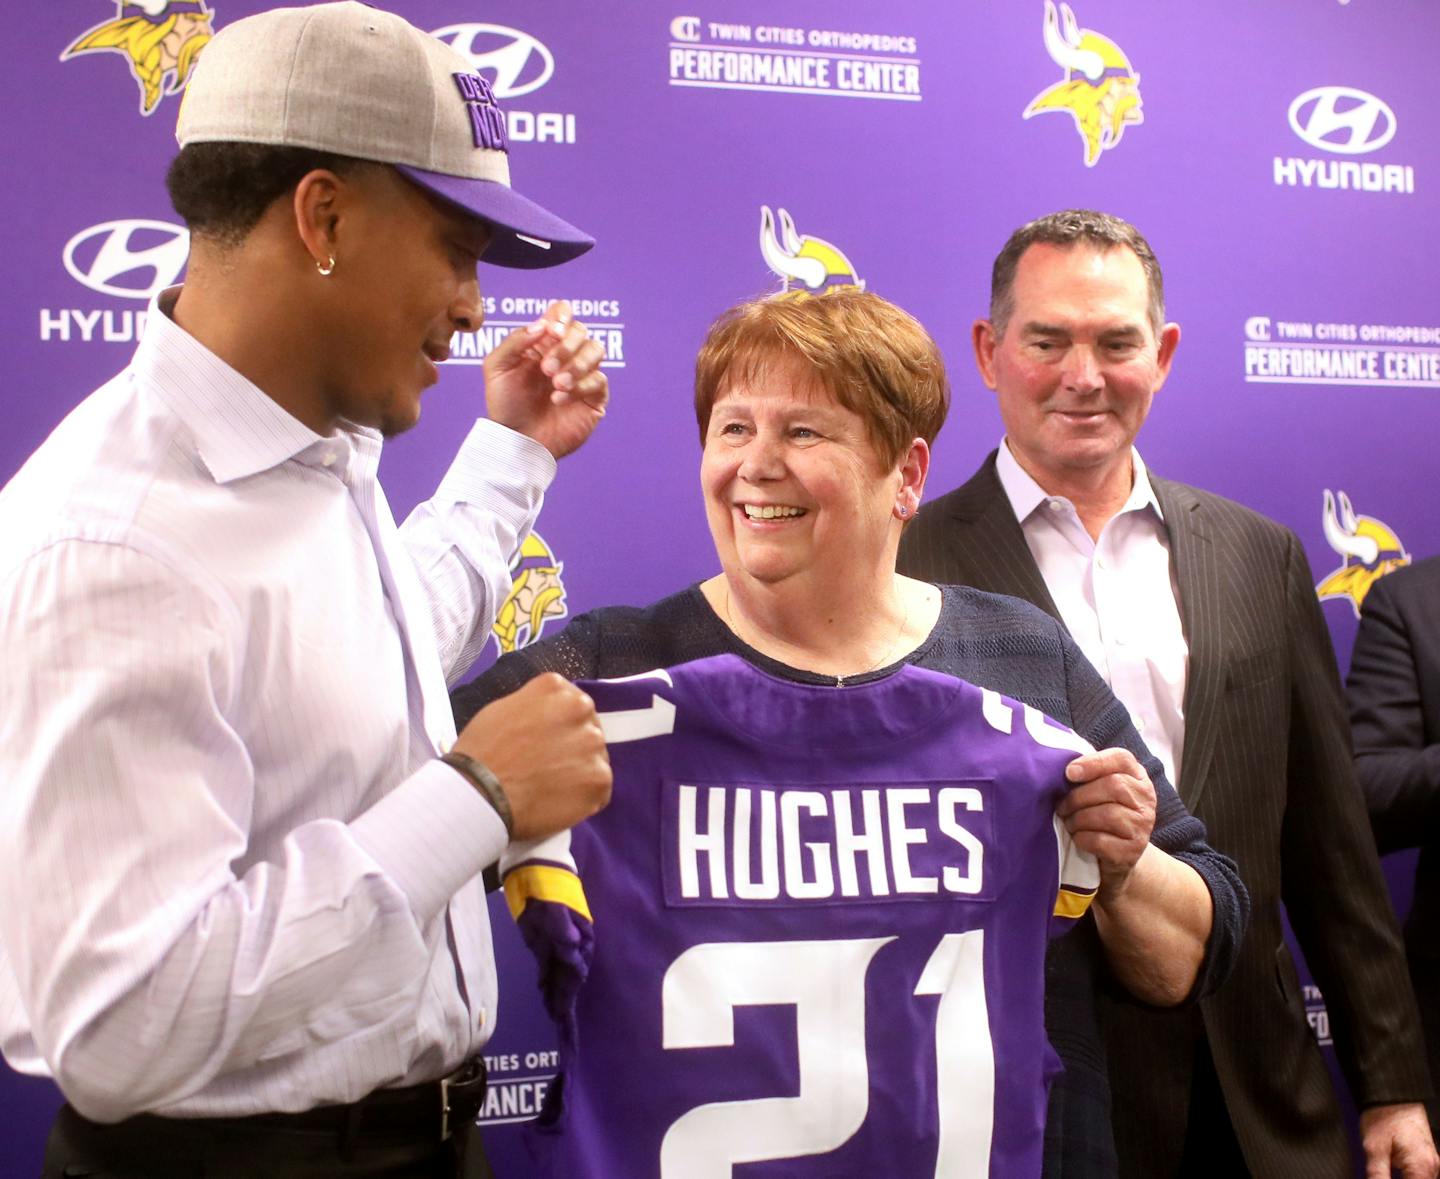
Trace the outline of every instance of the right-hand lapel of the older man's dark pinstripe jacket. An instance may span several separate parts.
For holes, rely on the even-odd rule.
[[[1224,636],[1220,561],[1211,543],[1205,511],[1182,484],[1151,475],[1155,498],[1165,514],[1171,569],[1179,587],[1179,616],[1189,646],[1185,675],[1185,747],[1175,789],[1191,813],[1200,805],[1205,776],[1215,754],[1217,717],[1224,703]]]

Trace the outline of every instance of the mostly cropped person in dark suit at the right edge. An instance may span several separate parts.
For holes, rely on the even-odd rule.
[[[1345,681],[1355,770],[1382,852],[1420,848],[1405,920],[1431,1075],[1440,1072],[1440,557],[1365,595]],[[1431,1101],[1431,1130],[1440,1108]]]

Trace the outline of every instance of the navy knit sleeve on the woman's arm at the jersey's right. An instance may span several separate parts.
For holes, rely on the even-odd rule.
[[[1185,809],[1159,759],[1135,731],[1125,705],[1074,641],[1064,632],[1061,638],[1071,727],[1096,749],[1128,749],[1139,759],[1155,785],[1155,829],[1151,832],[1151,842],[1194,868],[1210,890],[1214,910],[1210,940],[1205,943],[1205,957],[1195,985],[1187,996],[1187,1002],[1194,1002],[1212,993],[1230,977],[1250,921],[1250,894],[1234,861],[1205,842],[1205,825]]]

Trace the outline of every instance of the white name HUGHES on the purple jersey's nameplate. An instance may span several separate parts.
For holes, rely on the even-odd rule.
[[[992,786],[667,785],[665,903],[989,900]]]

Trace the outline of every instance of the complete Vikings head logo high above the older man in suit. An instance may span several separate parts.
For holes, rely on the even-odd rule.
[[[1037,94],[1024,117],[1068,114],[1084,140],[1086,167],[1093,168],[1102,151],[1120,143],[1126,127],[1145,121],[1140,75],[1120,46],[1093,29],[1077,27],[1070,6],[1056,12],[1054,0],[1045,0],[1045,49],[1064,69],[1066,81]]]

